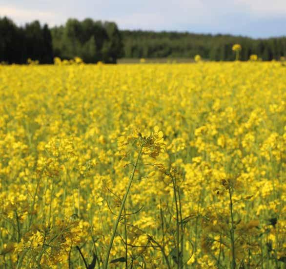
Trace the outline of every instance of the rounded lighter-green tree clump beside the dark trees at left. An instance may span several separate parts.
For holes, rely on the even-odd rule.
[[[114,22],[68,19],[51,29],[54,55],[70,59],[78,56],[86,63],[116,63],[123,57],[121,33]]]

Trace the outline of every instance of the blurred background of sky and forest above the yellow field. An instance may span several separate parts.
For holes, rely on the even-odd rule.
[[[285,25],[285,0],[1,0],[0,62],[279,60]]]

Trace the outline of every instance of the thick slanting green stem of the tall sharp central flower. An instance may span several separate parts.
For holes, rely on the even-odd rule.
[[[138,156],[137,156],[137,159],[136,159],[136,163],[135,163],[135,165],[134,165],[134,167],[133,167],[132,174],[131,174],[131,176],[130,176],[130,178],[129,178],[128,185],[127,185],[127,189],[126,189],[126,192],[125,192],[125,194],[124,194],[124,197],[123,197],[123,200],[122,200],[122,203],[121,203],[121,207],[120,207],[120,210],[119,210],[117,219],[116,219],[116,221],[114,222],[114,225],[113,225],[113,232],[112,232],[112,236],[111,236],[111,239],[110,239],[110,242],[109,242],[109,246],[108,246],[108,249],[107,249],[106,258],[105,258],[105,261],[104,261],[104,266],[103,266],[104,269],[107,269],[107,267],[108,267],[108,259],[109,259],[109,255],[110,255],[110,250],[111,250],[111,248],[112,248],[113,240],[114,240],[114,238],[115,238],[116,230],[117,230],[117,227],[118,227],[118,224],[119,224],[121,215],[122,215],[122,211],[123,211],[123,208],[124,208],[124,205],[125,205],[125,202],[126,202],[128,193],[129,193],[129,191],[130,191],[132,182],[133,182],[135,170],[136,170],[136,167],[137,167],[137,164],[138,164],[138,161],[139,161],[141,152],[142,152],[142,146],[141,146],[141,148],[140,148],[140,150],[139,150],[139,152],[138,152]]]

